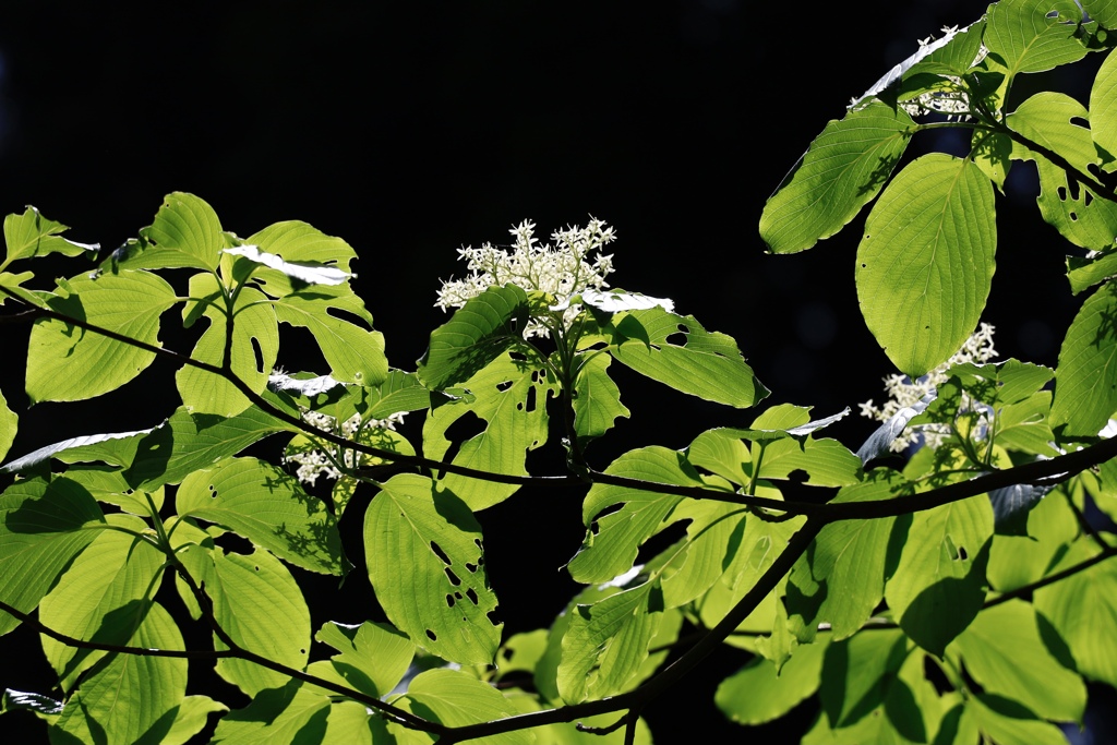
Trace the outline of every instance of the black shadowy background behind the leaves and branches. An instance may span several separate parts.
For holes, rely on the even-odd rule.
[[[857,222],[791,257],[766,256],[756,223],[851,97],[917,39],[968,23],[984,7],[273,1],[125,12],[9,2],[0,17],[0,210],[35,204],[73,226],[68,237],[106,250],[149,225],[173,190],[209,201],[241,236],[306,220],[359,252],[357,292],[403,369],[445,319],[433,302],[440,278],[462,274],[455,249],[506,242],[523,219],[545,236],[593,214],[618,229],[612,284],[671,297],[735,336],[771,402],[856,412],[882,398],[880,378],[891,372],[858,313]],[[1092,78],[1083,66],[1058,75],[1080,97]],[[917,139],[909,153],[964,147],[954,136]],[[1000,264],[985,319],[997,326],[1002,357],[1053,365],[1077,300],[1059,278],[1065,245],[1039,221],[1037,190],[1034,170],[1018,166],[999,197]],[[299,347],[306,338],[292,338],[285,365],[324,371],[313,348]],[[170,328],[163,340],[189,350]],[[156,363],[105,401],[25,413],[26,335],[3,344],[0,384],[22,418],[12,455],[151,427],[174,405],[173,369]],[[633,417],[591,449],[599,467],[632,447],[684,447],[703,429],[754,416],[621,378]],[[831,432],[856,448],[871,428],[855,416]],[[524,491],[481,515],[507,632],[546,625],[572,594],[558,567],[581,541],[579,499]],[[360,567],[360,525],[346,529]],[[360,571],[335,590],[309,586],[315,625],[380,612]],[[10,661],[36,644],[23,631],[0,640],[0,687],[49,689],[45,662]],[[720,656],[649,711],[659,742],[696,726],[710,739],[748,736],[712,704],[717,681],[744,660]],[[198,666],[191,680],[240,704]],[[804,732],[811,707],[755,736]],[[23,725],[42,736],[30,717],[0,722],[6,735]]]

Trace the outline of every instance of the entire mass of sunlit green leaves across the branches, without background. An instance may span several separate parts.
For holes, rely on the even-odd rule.
[[[1018,75],[1111,46],[1117,3],[1083,6],[1005,0],[925,47],[829,124],[768,202],[762,235],[789,252],[880,194],[858,290],[913,378],[978,323],[1013,161],[1038,163],[1042,217],[1089,251],[1068,276],[1072,292],[1098,287],[1057,370],[957,365],[917,418],[857,453],[821,437],[846,412],[781,404],[595,468],[594,442],[629,413],[614,362],[732,409],[767,394],[731,337],[656,298],[488,287],[409,372],[350,286],[353,250],[305,223],[241,239],[174,193],[92,271],[31,289],[11,265],[94,248],[34,209],[9,216],[0,304],[3,323],[31,326],[31,402],[102,395],[162,355],[182,405],[3,466],[0,633],[39,632],[58,693],[7,690],[0,710],[35,711],[56,743],[183,743],[211,715],[218,743],[650,742],[641,711],[732,644],[754,657],[719,687],[720,709],[757,724],[817,694],[806,743],[1063,742],[1083,680],[1117,685],[1117,542],[1083,517],[1092,504],[1117,519],[1117,440],[1099,434],[1117,411],[1117,58],[1089,111],[1057,93],[1006,102]],[[943,126],[973,131],[970,155],[892,176],[907,142]],[[160,342],[172,308],[184,328],[202,322],[190,354]],[[328,375],[274,371],[280,323],[311,333]],[[525,336],[529,323],[548,336]],[[401,412],[422,418],[416,436],[379,426]],[[459,423],[479,431],[456,437]],[[928,423],[942,445],[880,458]],[[0,398],[0,458],[17,426]],[[268,437],[328,461],[326,498],[246,455]],[[548,440],[567,474],[528,472]],[[811,497],[785,498],[792,484]],[[585,586],[550,629],[503,638],[476,513],[550,485],[586,486],[566,566]],[[357,490],[372,498],[354,567],[337,526]],[[288,565],[364,571],[384,617],[315,628]],[[185,648],[190,619],[212,644]],[[312,640],[335,653],[312,660]],[[191,660],[251,703],[188,696]]]

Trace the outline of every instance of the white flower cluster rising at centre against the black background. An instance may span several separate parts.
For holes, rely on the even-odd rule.
[[[563,311],[563,322],[570,324],[581,311],[577,304],[567,307],[571,296],[584,289],[608,287],[605,277],[613,271],[612,255],[593,257],[613,242],[617,233],[601,220],[590,218],[584,228],[570,227],[551,233],[554,245],[541,245],[535,238],[535,223],[523,221],[509,231],[514,241],[510,252],[485,243],[480,248],[459,248],[469,275],[449,279],[438,290],[436,306],[443,311],[460,308],[493,286],[516,285],[524,290],[541,290],[555,298],[553,311]],[[547,329],[532,321],[525,336],[546,336]]]

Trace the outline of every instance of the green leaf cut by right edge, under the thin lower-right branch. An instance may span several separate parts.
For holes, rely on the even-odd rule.
[[[1085,561],[1080,545],[1067,557]],[[1104,561],[1035,591],[1035,610],[1070,648],[1078,672],[1117,686],[1117,639],[1101,629],[1117,624],[1117,562]]]

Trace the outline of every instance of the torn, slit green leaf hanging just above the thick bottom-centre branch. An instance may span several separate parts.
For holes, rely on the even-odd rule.
[[[562,640],[558,695],[566,704],[602,698],[624,689],[648,656],[661,613],[653,612],[646,582],[592,605],[576,605]],[[658,603],[657,603],[658,605]]]

